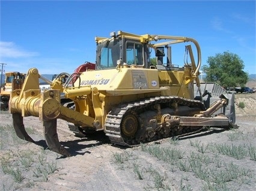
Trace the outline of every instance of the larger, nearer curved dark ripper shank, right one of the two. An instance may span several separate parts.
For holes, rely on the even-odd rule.
[[[63,156],[70,156],[71,154],[59,143],[57,134],[57,119],[52,119],[43,122],[44,138],[50,150],[55,151]]]

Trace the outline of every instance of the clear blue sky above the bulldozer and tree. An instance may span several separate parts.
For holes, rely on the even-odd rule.
[[[255,1],[0,1],[0,6],[5,71],[72,73],[85,61],[95,62],[96,36],[125,31],[195,38],[202,65],[230,51],[243,60],[245,72],[256,74]]]

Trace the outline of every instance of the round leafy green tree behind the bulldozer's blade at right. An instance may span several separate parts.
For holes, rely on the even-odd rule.
[[[206,81],[216,82],[223,87],[236,87],[245,86],[249,79],[243,71],[243,60],[230,51],[208,57],[207,63],[209,66],[203,65],[202,68],[206,73]]]

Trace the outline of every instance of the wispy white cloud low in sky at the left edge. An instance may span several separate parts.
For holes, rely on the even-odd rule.
[[[17,47],[13,42],[0,42],[0,53],[1,57],[31,57],[38,56],[37,52],[22,50],[22,48]]]

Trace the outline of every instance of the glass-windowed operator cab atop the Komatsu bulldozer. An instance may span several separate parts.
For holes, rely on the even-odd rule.
[[[96,69],[116,68],[118,63],[122,65],[147,67],[148,48],[139,39],[127,38],[125,35],[111,33],[111,38],[96,37]]]

